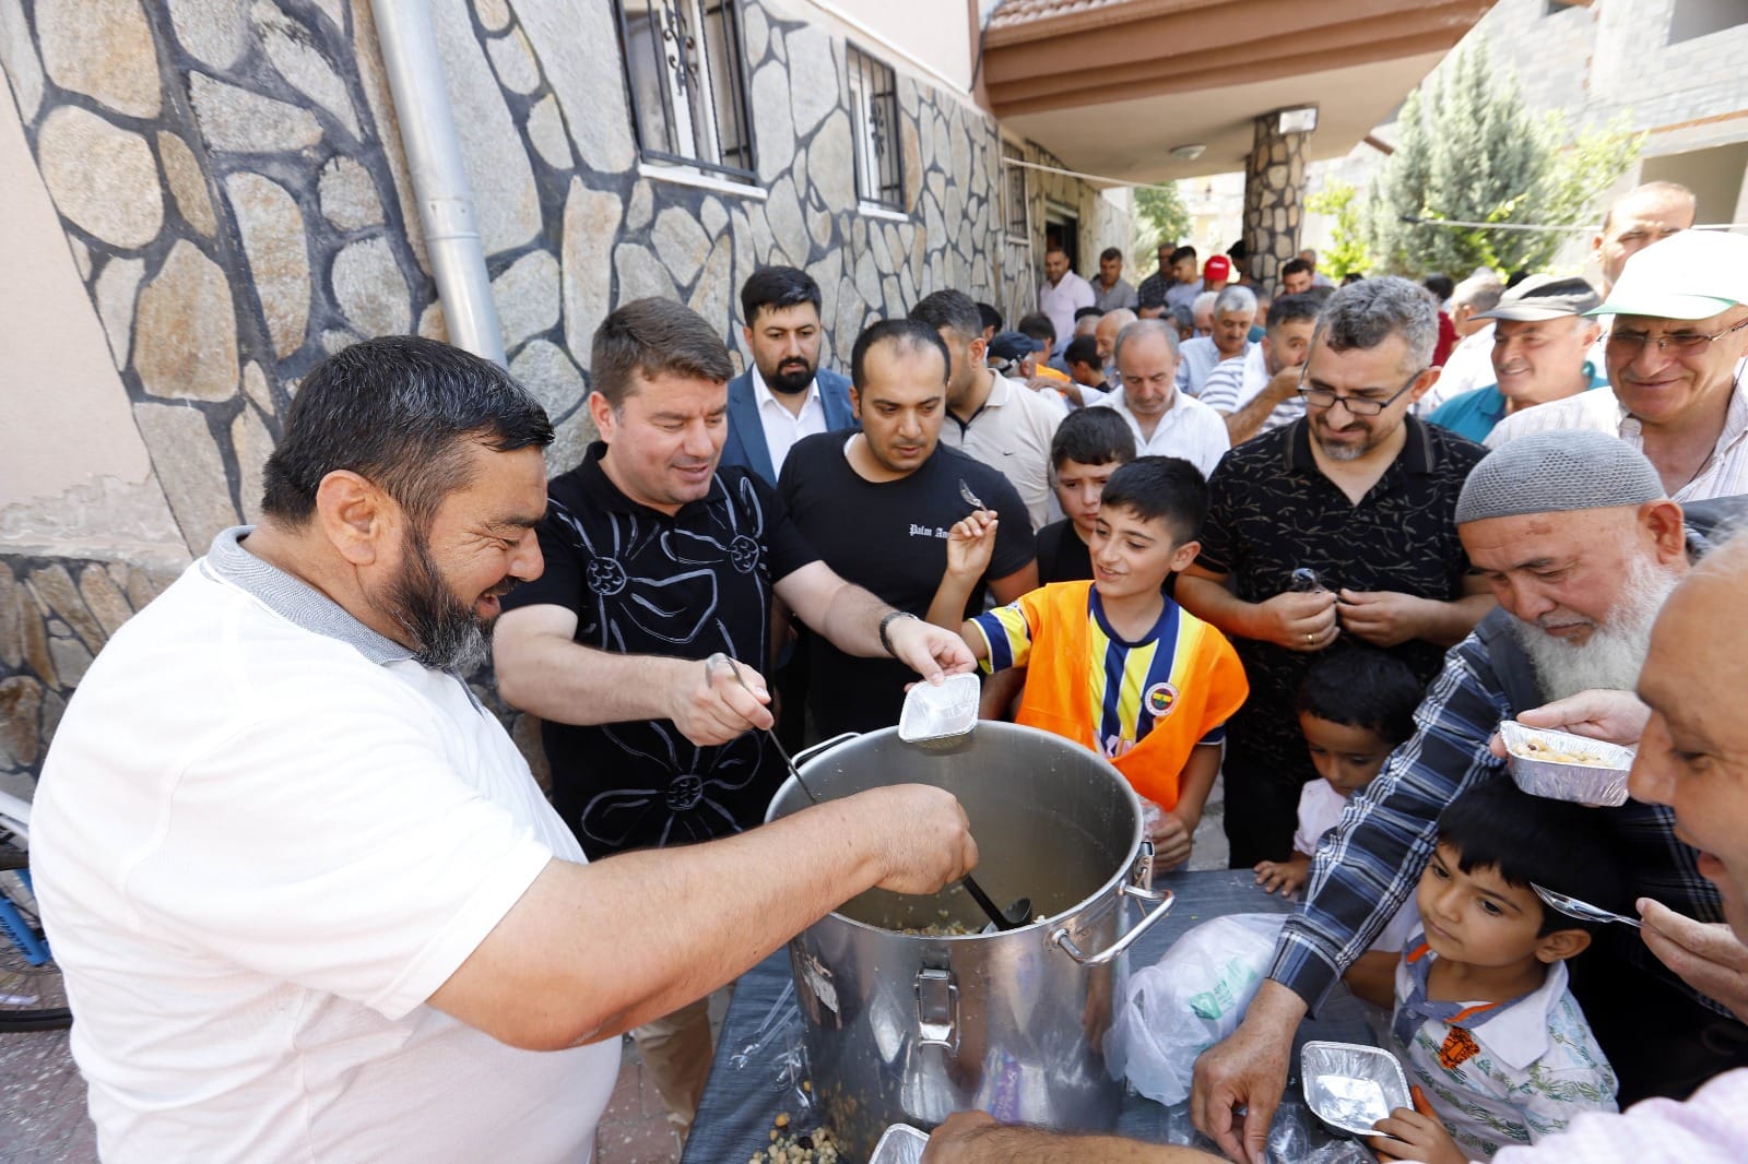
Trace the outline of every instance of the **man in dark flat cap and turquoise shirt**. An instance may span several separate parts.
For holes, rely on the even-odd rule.
[[[1584,313],[1601,302],[1580,278],[1531,274],[1500,302],[1474,318],[1493,325],[1493,376],[1484,388],[1451,397],[1430,419],[1470,440],[1486,440],[1493,426],[1523,409],[1606,388],[1608,376],[1589,362],[1601,330]]]

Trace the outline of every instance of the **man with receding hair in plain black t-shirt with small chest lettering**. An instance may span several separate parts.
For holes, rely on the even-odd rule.
[[[939,444],[947,367],[933,327],[874,323],[850,357],[850,402],[862,432],[801,440],[778,477],[783,505],[825,565],[918,617],[946,573],[947,530],[979,507],[1000,521],[984,575],[989,591],[1005,603],[1038,585],[1019,493],[995,468]],[[836,736],[898,722],[911,682],[900,666],[853,659],[820,636],[811,645],[815,731]]]

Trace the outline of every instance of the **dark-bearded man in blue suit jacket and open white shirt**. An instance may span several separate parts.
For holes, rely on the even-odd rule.
[[[797,440],[857,426],[850,381],[820,367],[820,285],[806,271],[753,271],[741,315],[753,365],[729,381],[722,465],[743,465],[774,486]]]

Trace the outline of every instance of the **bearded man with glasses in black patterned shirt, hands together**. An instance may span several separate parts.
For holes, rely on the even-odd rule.
[[[1208,481],[1201,556],[1176,598],[1227,633],[1250,676],[1222,769],[1232,869],[1292,856],[1299,793],[1318,779],[1294,713],[1311,657],[1346,636],[1426,682],[1493,606],[1451,521],[1484,451],[1409,416],[1439,378],[1437,337],[1432,301],[1405,280],[1335,292],[1302,367],[1304,416],[1227,453]]]

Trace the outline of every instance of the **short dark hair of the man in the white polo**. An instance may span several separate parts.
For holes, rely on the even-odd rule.
[[[442,498],[468,484],[468,444],[544,449],[552,423],[491,360],[418,336],[364,339],[304,376],[262,470],[260,509],[302,523],[322,479],[348,470],[425,530]]]

